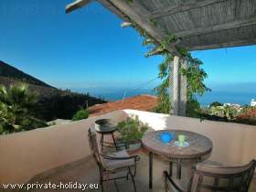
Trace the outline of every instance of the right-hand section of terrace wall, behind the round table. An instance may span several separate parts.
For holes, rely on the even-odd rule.
[[[196,118],[125,110],[129,116],[138,115],[154,130],[177,129],[201,133],[213,142],[211,160],[224,165],[240,165],[256,159],[256,126],[239,123],[201,121]]]

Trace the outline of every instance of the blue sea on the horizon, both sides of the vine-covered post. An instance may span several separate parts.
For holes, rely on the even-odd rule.
[[[80,92],[85,92],[81,91]],[[153,89],[137,89],[127,91],[125,89],[87,89],[92,96],[101,97],[107,101],[117,101],[123,98],[132,97],[140,94],[155,95]],[[240,91],[208,91],[204,96],[198,96],[197,99],[203,107],[208,106],[213,101],[222,103],[237,103],[240,105],[250,104],[251,99],[256,98],[256,91],[240,92]]]

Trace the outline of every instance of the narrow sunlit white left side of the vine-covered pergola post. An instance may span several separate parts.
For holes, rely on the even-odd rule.
[[[175,56],[173,65],[173,114],[179,115],[179,98],[180,98],[180,86],[179,86],[179,57]]]

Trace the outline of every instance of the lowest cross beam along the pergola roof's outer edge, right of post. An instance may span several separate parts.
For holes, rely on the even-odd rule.
[[[206,49],[213,49],[213,48],[233,48],[233,47],[240,47],[240,46],[251,46],[255,44],[256,44],[256,38],[211,44],[211,45],[205,45],[205,46],[190,46],[190,47],[187,47],[187,50],[192,51],[192,50],[206,50]]]

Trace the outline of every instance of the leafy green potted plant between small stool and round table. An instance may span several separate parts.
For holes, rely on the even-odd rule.
[[[121,133],[120,139],[126,143],[140,141],[147,129],[148,126],[141,123],[137,116],[118,123],[118,132]]]

